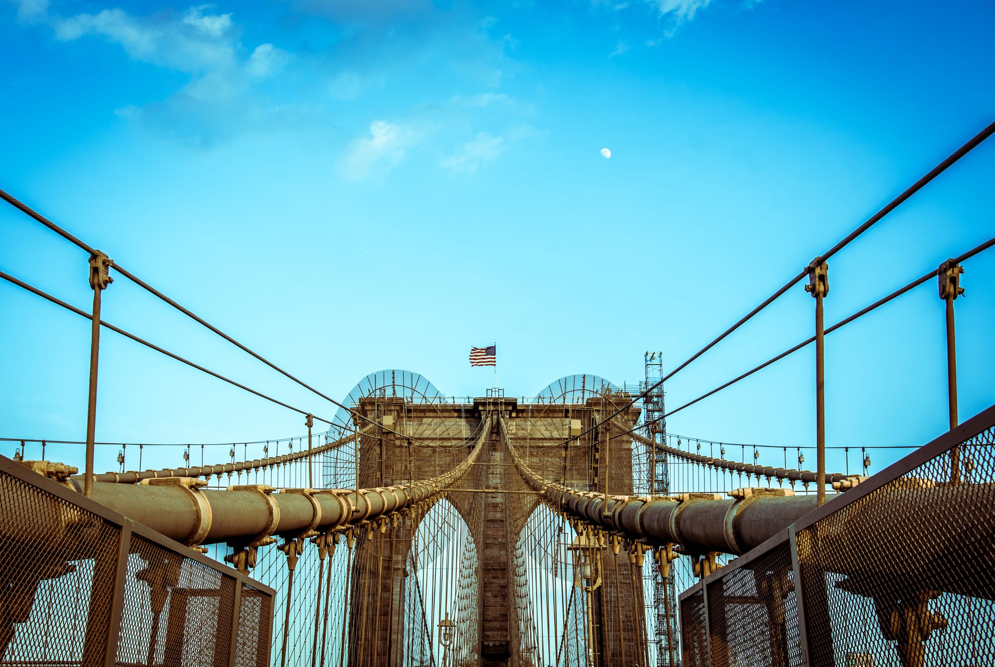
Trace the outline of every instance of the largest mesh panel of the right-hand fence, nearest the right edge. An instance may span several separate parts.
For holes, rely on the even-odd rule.
[[[995,429],[797,536],[813,665],[995,663]]]

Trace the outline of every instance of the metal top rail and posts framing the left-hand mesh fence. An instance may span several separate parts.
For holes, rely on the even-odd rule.
[[[125,582],[127,579],[127,561],[128,555],[130,553],[131,539],[133,536],[138,536],[151,543],[154,543],[158,547],[170,551],[177,556],[181,556],[185,559],[195,560],[202,565],[206,565],[211,569],[215,570],[222,577],[231,579],[235,584],[235,597],[233,600],[232,607],[232,620],[231,620],[231,645],[229,648],[227,664],[229,667],[234,667],[235,657],[236,657],[236,647],[238,645],[238,628],[239,619],[242,613],[242,587],[244,585],[252,586],[257,590],[269,595],[271,599],[275,599],[276,590],[270,586],[257,581],[252,577],[249,577],[242,572],[224,565],[217,560],[204,556],[203,554],[196,552],[189,547],[186,547],[174,540],[171,540],[160,533],[156,533],[152,529],[143,526],[142,524],[137,524],[127,517],[114,512],[113,510],[100,505],[100,503],[94,501],[93,499],[87,498],[81,493],[78,493],[68,487],[60,484],[59,482],[49,479],[44,475],[40,475],[35,471],[29,469],[28,467],[7,458],[6,456],[0,455],[0,474],[6,474],[16,480],[27,484],[28,486],[36,488],[39,492],[43,494],[49,494],[55,496],[57,499],[75,505],[76,507],[89,512],[101,520],[105,521],[107,524],[116,527],[119,530],[118,534],[118,548],[117,548],[117,562],[114,567],[113,576],[113,591],[111,593],[111,606],[108,617],[107,626],[107,636],[106,645],[101,652],[102,664],[104,667],[114,667],[116,663],[117,656],[117,646],[120,641],[120,630],[121,630],[121,613],[124,608],[124,589]],[[267,643],[266,647],[266,664],[270,664],[272,642],[273,642],[273,614],[275,611],[275,605],[270,605],[270,615],[265,619],[267,623],[266,633],[270,637],[270,641]],[[219,619],[221,620],[221,619]],[[88,617],[88,623],[90,619]],[[220,623],[219,623],[220,624]],[[85,654],[86,655],[86,654]],[[2,656],[0,656],[2,660]],[[84,659],[84,663],[87,660]]]

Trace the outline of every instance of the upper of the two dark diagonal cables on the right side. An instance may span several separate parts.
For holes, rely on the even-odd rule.
[[[824,253],[823,255],[820,255],[819,257],[817,257],[816,260],[813,260],[812,264],[809,264],[804,269],[802,269],[801,272],[798,273],[798,275],[796,275],[790,281],[788,281],[784,285],[784,287],[782,287],[777,292],[775,292],[774,294],[772,294],[770,297],[768,297],[767,299],[765,299],[763,301],[763,303],[761,303],[759,306],[757,306],[752,311],[750,311],[745,316],[743,316],[736,324],[732,325],[727,330],[725,330],[724,332],[720,333],[717,337],[715,337],[713,340],[711,340],[711,342],[709,342],[708,344],[706,344],[704,347],[701,347],[701,349],[697,350],[697,352],[695,352],[690,357],[688,357],[688,359],[686,361],[684,361],[681,365],[679,365],[677,368],[675,368],[671,372],[667,373],[667,375],[665,375],[664,377],[660,378],[660,380],[658,380],[654,384],[646,387],[641,392],[639,392],[638,394],[636,394],[635,396],[633,396],[632,398],[630,398],[629,401],[626,404],[624,404],[621,408],[619,408],[618,410],[616,410],[615,412],[613,412],[611,415],[609,415],[608,417],[606,417],[606,420],[613,419],[614,417],[622,414],[622,412],[624,412],[625,410],[628,410],[630,407],[632,407],[633,404],[636,403],[636,401],[640,400],[641,398],[645,398],[648,393],[650,393],[651,391],[653,391],[654,389],[656,389],[657,387],[659,387],[660,385],[662,385],[664,382],[666,382],[667,380],[669,380],[671,377],[673,377],[674,375],[676,375],[678,372],[680,372],[681,370],[683,370],[686,366],[688,366],[695,359],[697,359],[697,357],[701,356],[701,354],[704,354],[706,351],[708,351],[709,349],[711,349],[712,347],[714,347],[716,344],[718,344],[718,342],[720,342],[727,335],[729,335],[730,333],[733,333],[734,331],[736,331],[737,329],[739,329],[740,327],[742,327],[744,324],[746,324],[748,321],[752,320],[753,317],[756,316],[760,311],[762,311],[763,309],[765,309],[768,306],[770,306],[777,299],[779,299],[785,292],[787,292],[788,290],[790,290],[791,288],[793,288],[802,279],[804,279],[805,276],[807,276],[809,274],[809,272],[811,271],[811,268],[812,268],[813,264],[818,264],[819,262],[824,262],[827,259],[829,259],[830,257],[832,257],[833,255],[835,255],[836,253],[838,253],[839,251],[843,250],[843,248],[846,247],[850,242],[852,242],[854,239],[856,239],[858,236],[860,236],[861,234],[863,234],[867,230],[871,229],[871,227],[875,223],[877,223],[882,218],[884,218],[886,215],[888,215],[889,213],[891,213],[892,211],[894,211],[902,202],[904,202],[910,196],[912,196],[913,194],[915,194],[916,192],[918,192],[920,189],[922,189],[922,187],[925,186],[929,181],[931,181],[933,178],[935,178],[936,176],[938,176],[939,174],[941,174],[948,167],[950,167],[954,162],[956,162],[961,157],[963,157],[964,155],[966,155],[968,152],[971,151],[971,149],[973,149],[979,143],[981,143],[982,141],[984,141],[985,139],[987,139],[993,133],[995,133],[995,122],[990,123],[987,127],[985,127],[980,132],[978,132],[977,134],[975,134],[974,136],[972,136],[971,139],[967,141],[967,143],[965,143],[964,145],[962,145],[959,148],[957,148],[957,150],[955,150],[952,153],[950,153],[950,155],[945,160],[943,160],[942,162],[940,162],[939,164],[937,164],[935,167],[933,167],[932,169],[930,169],[928,173],[926,173],[924,176],[922,176],[917,181],[915,181],[914,183],[912,183],[908,188],[905,189],[904,192],[902,192],[895,199],[893,199],[891,202],[889,202],[887,206],[885,206],[883,209],[881,209],[880,211],[878,211],[877,213],[875,213],[873,216],[871,216],[870,218],[868,218],[867,221],[865,221],[860,227],[858,227],[857,229],[855,229],[854,231],[852,231],[850,234],[848,234],[843,240],[841,240],[835,246],[833,246],[828,251],[826,251],[826,253]],[[829,332],[827,331],[826,333],[829,333]],[[567,438],[564,441],[564,443],[572,442],[572,441],[576,440],[577,438],[580,438],[584,434],[586,434],[586,433],[594,430],[594,428],[595,428],[595,426],[591,426],[586,431],[583,431],[583,432],[579,433],[578,435],[575,435],[575,436],[573,436],[571,438]]]

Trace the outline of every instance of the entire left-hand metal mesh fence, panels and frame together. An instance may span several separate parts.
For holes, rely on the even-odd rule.
[[[0,457],[0,665],[265,666],[273,594]]]

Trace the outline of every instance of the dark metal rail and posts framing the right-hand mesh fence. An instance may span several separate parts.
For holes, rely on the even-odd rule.
[[[767,555],[773,549],[780,547],[787,542],[791,554],[791,569],[795,587],[795,604],[797,606],[798,613],[798,635],[801,647],[802,665],[803,667],[811,667],[812,659],[809,652],[808,640],[809,626],[805,614],[805,595],[803,594],[801,563],[798,558],[798,533],[811,528],[819,521],[843,510],[844,508],[847,508],[862,498],[870,496],[872,493],[891,484],[902,475],[905,475],[919,466],[942,456],[954,447],[967,442],[992,426],[995,426],[995,405],[982,410],[967,421],[961,423],[959,426],[950,429],[946,433],[943,433],[939,437],[898,459],[895,463],[888,466],[877,475],[868,478],[855,488],[850,489],[845,493],[840,493],[831,500],[827,500],[826,504],[822,507],[813,510],[788,528],[768,539],[763,544],[755,547],[746,554],[729,561],[723,567],[718,568],[716,571],[698,580],[695,585],[682,592],[678,601],[679,609],[682,608],[686,598],[696,594],[698,591],[701,592],[704,604],[705,654],[707,655],[708,664],[710,665],[712,660],[710,613],[708,610],[708,584],[722,578],[729,572],[738,569],[739,567],[749,564],[760,556]],[[684,618],[681,619],[681,622],[683,625]],[[684,636],[684,632],[682,632],[682,636]],[[684,648],[685,647],[682,646],[682,655],[684,653]]]

